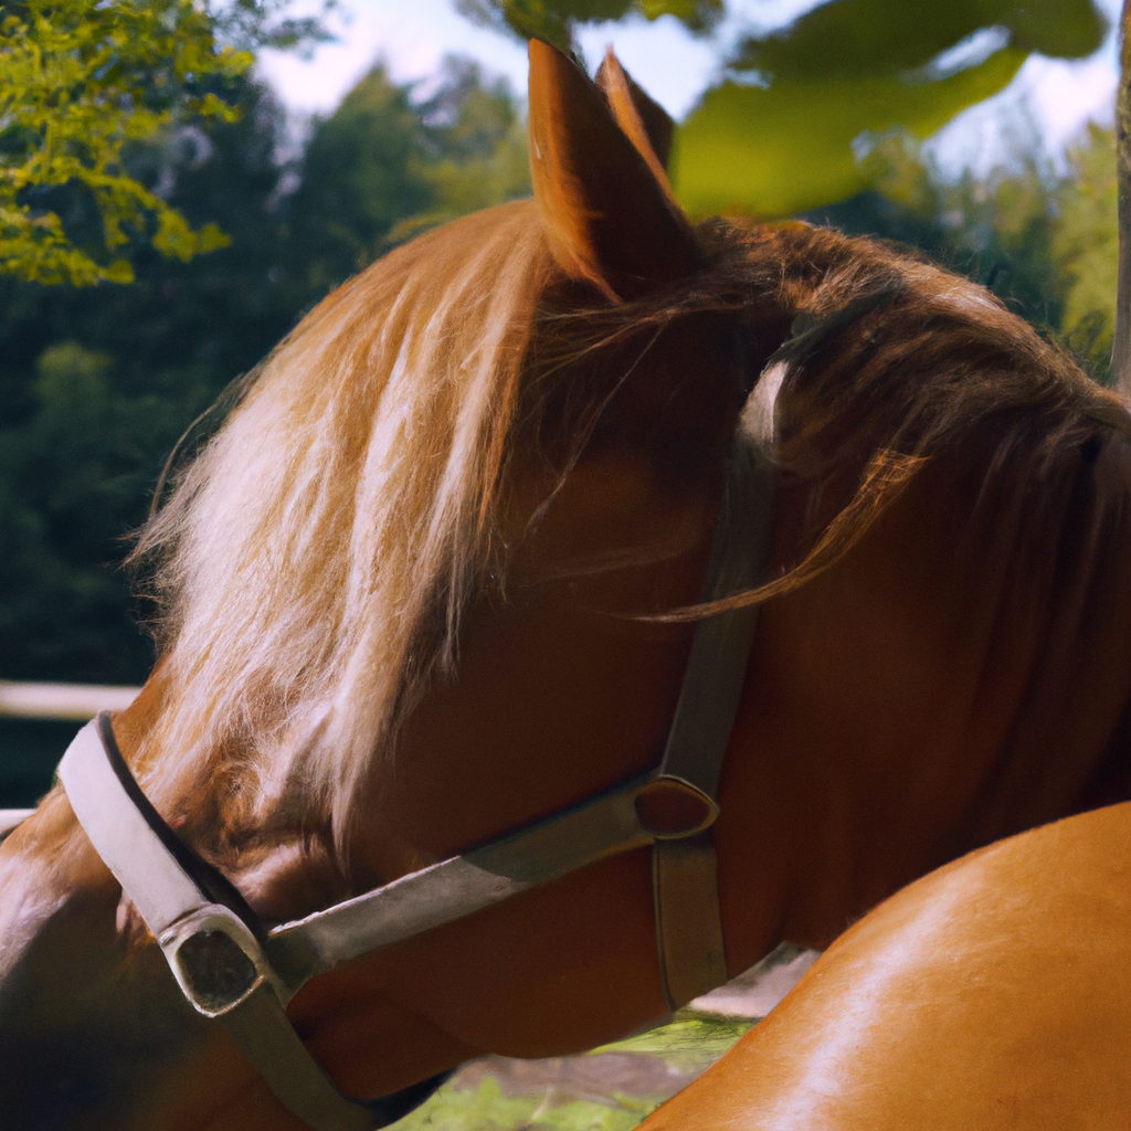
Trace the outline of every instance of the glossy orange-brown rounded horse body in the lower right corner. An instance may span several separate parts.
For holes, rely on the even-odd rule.
[[[1125,1128],[1131,805],[881,904],[645,1131]]]

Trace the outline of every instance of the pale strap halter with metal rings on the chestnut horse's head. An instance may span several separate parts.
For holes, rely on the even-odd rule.
[[[702,601],[761,581],[771,474],[754,440],[740,429]],[[284,1007],[310,978],[346,959],[606,856],[651,845],[656,941],[668,1007],[674,1010],[727,981],[711,826],[757,619],[758,605],[750,605],[697,623],[656,770],[269,931],[143,794],[118,749],[109,714],[79,731],[59,765],[59,779],[193,1008],[224,1026],[284,1106],[314,1131],[370,1131],[407,1114],[449,1073],[377,1100],[338,1091],[307,1052]]]

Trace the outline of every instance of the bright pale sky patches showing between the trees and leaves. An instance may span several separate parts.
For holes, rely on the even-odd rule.
[[[301,11],[303,0],[295,5]],[[914,2],[914,0],[912,0]],[[340,0],[330,19],[338,42],[318,48],[309,60],[266,52],[262,74],[297,115],[331,111],[378,59],[398,81],[428,80],[449,53],[470,55],[504,75],[517,92],[526,87],[526,50],[459,16],[451,0]],[[1114,27],[1120,0],[1098,0]],[[723,42],[743,29],[775,27],[814,7],[814,0],[728,0],[731,15],[716,35]],[[718,67],[717,46],[688,34],[672,17],[585,28],[581,45],[596,64],[612,43],[621,62],[675,119],[684,116]],[[1114,34],[1080,62],[1031,57],[1010,86],[960,114],[933,139],[944,167],[985,170],[1008,153],[1010,137],[1031,131],[1056,156],[1089,119],[1110,124],[1115,92]]]

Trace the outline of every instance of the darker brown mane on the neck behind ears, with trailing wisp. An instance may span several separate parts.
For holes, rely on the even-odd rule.
[[[804,585],[839,562],[939,457],[969,457],[976,447],[978,507],[1004,510],[1010,492],[1048,486],[1054,465],[1082,446],[1131,440],[1125,406],[1070,354],[914,249],[795,223],[727,224],[741,249],[741,285],[772,294],[794,316],[775,357],[785,372],[772,458],[779,478],[805,486],[810,513],[779,577],[675,618]],[[1062,502],[1050,495],[1044,506],[1052,515]],[[1031,515],[1031,499],[1026,509]]]

